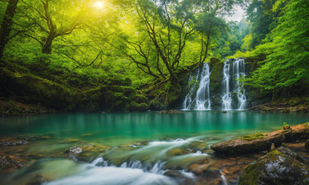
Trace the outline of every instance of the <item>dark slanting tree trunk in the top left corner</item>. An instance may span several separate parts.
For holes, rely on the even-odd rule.
[[[12,30],[13,18],[18,2],[19,0],[9,0],[8,7],[5,10],[0,29],[0,58],[3,57],[5,45],[8,44],[8,41],[10,40],[10,32]]]

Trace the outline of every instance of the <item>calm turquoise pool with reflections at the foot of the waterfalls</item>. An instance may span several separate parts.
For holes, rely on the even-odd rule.
[[[187,137],[198,132],[267,132],[283,122],[308,121],[308,114],[260,114],[258,112],[187,111],[181,114],[112,113],[56,114],[0,119],[0,134],[52,134],[56,137],[160,138]]]

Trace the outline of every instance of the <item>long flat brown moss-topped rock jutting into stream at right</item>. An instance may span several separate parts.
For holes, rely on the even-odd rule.
[[[240,154],[263,151],[271,148],[274,143],[276,147],[282,145],[284,135],[280,133],[251,134],[241,138],[227,140],[211,145],[211,149],[217,153]]]

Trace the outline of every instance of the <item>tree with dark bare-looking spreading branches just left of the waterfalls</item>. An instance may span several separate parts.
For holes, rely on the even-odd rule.
[[[139,19],[139,35],[124,39],[128,49],[135,52],[124,52],[124,57],[157,79],[168,77],[176,80],[175,73],[185,43],[194,30],[192,20],[196,8],[192,1],[138,0],[135,11]],[[155,60],[155,64],[150,64],[150,60]]]

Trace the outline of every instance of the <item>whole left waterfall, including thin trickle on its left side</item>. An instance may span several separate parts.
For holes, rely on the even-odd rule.
[[[200,71],[201,75],[200,75]],[[189,85],[190,90],[185,96],[183,101],[183,110],[211,110],[211,101],[209,95],[209,77],[210,77],[209,64],[205,63],[203,69],[198,68],[197,75],[190,75]],[[200,81],[197,88],[196,82]],[[195,94],[196,91],[196,94]],[[195,104],[195,106],[194,106]]]

